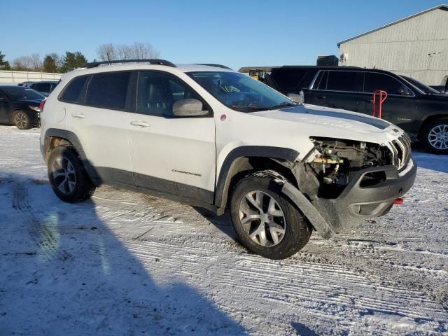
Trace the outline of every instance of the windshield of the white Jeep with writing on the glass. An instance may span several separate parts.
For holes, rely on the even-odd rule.
[[[187,74],[221,103],[236,111],[263,111],[297,105],[283,94],[243,73],[197,71]]]

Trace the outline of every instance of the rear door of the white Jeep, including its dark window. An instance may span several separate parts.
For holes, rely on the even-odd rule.
[[[105,182],[134,185],[126,134],[131,77],[131,71],[116,71],[75,78],[79,83],[73,85],[78,89],[82,85],[79,97],[65,97],[76,99],[66,107],[66,129],[76,134],[87,160]]]

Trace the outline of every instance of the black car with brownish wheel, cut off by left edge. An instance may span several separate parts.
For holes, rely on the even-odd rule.
[[[43,94],[16,85],[0,85],[0,123],[28,130],[40,123],[39,104]]]

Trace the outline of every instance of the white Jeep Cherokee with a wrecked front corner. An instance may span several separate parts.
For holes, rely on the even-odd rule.
[[[66,73],[41,113],[41,153],[65,202],[109,184],[230,210],[241,244],[287,258],[383,216],[416,165],[398,127],[295,102],[218,64],[95,62]]]

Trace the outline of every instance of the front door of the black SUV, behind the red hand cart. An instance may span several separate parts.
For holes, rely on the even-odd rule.
[[[363,99],[361,99],[362,104],[360,104],[361,113],[372,114],[374,90],[387,92],[386,101],[382,106],[381,118],[407,132],[411,132],[416,113],[414,92],[400,80],[386,73],[365,72]]]

